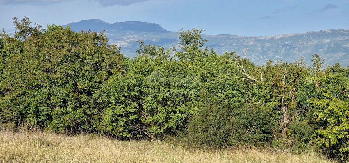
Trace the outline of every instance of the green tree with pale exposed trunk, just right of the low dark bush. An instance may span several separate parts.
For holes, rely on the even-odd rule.
[[[252,71],[240,72],[246,72],[253,79],[259,78],[246,80],[248,76],[245,75],[247,77],[244,80],[249,81],[251,85],[248,92],[251,96],[250,102],[261,103],[272,110],[276,141],[277,138],[285,140],[290,123],[299,116],[296,105],[298,85],[308,74],[303,59],[294,63],[268,61],[265,66],[252,67]]]

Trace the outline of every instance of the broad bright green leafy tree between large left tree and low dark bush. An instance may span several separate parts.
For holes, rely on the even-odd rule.
[[[177,62],[162,47],[143,45],[124,75],[103,89],[101,129],[120,137],[153,138],[185,129],[194,107],[198,79],[193,63]]]

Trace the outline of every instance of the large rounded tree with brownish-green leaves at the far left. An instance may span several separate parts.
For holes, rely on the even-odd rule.
[[[27,30],[28,23],[17,26]],[[47,28],[25,33],[27,38],[17,41],[23,50],[4,49],[10,58],[1,82],[3,120],[58,132],[92,130],[100,109],[94,98],[103,81],[123,65],[119,48],[107,44],[103,32]]]

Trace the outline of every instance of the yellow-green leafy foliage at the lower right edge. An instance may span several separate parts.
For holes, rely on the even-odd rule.
[[[314,114],[317,121],[326,121],[326,125],[315,131],[313,142],[327,156],[347,161],[349,155],[349,103],[335,98],[331,92],[322,94],[325,99],[310,99],[314,107],[319,108]]]

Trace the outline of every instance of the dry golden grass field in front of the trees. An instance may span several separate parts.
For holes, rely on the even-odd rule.
[[[0,131],[0,162],[273,163],[331,162],[313,152],[300,155],[272,149],[186,150],[158,141],[117,141],[87,134]]]

